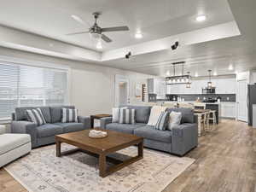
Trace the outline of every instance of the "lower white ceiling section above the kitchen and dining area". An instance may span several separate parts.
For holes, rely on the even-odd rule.
[[[208,69],[212,69],[212,72],[218,75],[224,75],[254,69],[256,67],[254,51],[254,44],[239,36],[183,46],[175,51],[165,49],[136,55],[129,60],[118,59],[103,63],[110,67],[165,76],[168,71],[173,73],[172,62],[186,61],[184,72],[189,71],[192,76],[196,73],[199,76],[206,76]],[[229,70],[230,65],[233,70]],[[181,73],[181,69],[181,66],[177,67],[176,73]]]

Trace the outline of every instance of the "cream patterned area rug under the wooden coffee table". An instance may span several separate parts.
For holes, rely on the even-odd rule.
[[[61,147],[73,148],[68,144]],[[113,154],[121,160],[127,155],[137,155],[137,148]],[[55,145],[50,145],[32,150],[5,170],[30,192],[160,192],[193,162],[190,158],[144,149],[143,160],[102,178],[95,157],[77,152],[58,158]]]

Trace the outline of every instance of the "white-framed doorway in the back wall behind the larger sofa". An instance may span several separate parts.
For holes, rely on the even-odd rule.
[[[130,103],[129,90],[130,82],[129,79],[123,75],[115,75],[115,107],[120,105],[126,105]]]

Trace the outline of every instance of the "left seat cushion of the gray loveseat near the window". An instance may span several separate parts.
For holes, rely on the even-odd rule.
[[[44,124],[38,126],[38,137],[50,137],[63,133],[63,128],[60,125]]]

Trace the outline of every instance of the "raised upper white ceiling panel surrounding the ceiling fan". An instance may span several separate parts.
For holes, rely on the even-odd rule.
[[[113,42],[104,43],[103,51],[234,20],[226,0],[8,0],[1,1],[0,24],[96,49],[89,34],[66,35],[88,30],[95,11],[102,12],[98,21],[102,27],[130,28],[129,32],[106,32]],[[201,14],[207,15],[207,22],[196,23],[195,16]],[[89,25],[81,25],[71,15]],[[137,30],[143,32],[143,39],[134,38]]]

